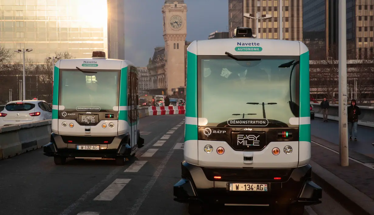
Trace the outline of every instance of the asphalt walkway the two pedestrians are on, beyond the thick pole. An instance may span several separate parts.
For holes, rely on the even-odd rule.
[[[316,117],[311,120],[310,133],[339,145],[338,121],[324,122],[322,118]],[[374,143],[374,128],[357,126],[357,136],[357,141],[348,140],[349,149],[374,158],[374,147],[371,145],[371,143]]]

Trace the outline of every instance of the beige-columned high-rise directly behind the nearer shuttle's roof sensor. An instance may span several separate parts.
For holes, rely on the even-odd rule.
[[[241,4],[240,4],[241,2]],[[283,39],[303,39],[303,3],[302,0],[283,0]],[[232,7],[231,7],[232,6]],[[241,11],[240,11],[241,10]],[[232,15],[231,15],[231,13]],[[243,17],[243,13],[252,14],[254,17],[271,15],[270,19],[249,19]],[[231,18],[231,16],[233,18]],[[241,17],[240,17],[241,16]],[[239,18],[242,21],[239,21]],[[229,0],[229,26],[230,36],[238,26],[252,28],[257,38],[279,38],[279,1],[278,0]],[[242,25],[240,25],[242,24]]]

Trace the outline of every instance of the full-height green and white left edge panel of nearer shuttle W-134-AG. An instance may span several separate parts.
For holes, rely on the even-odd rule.
[[[198,165],[197,149],[197,42],[187,48],[186,127],[184,134],[184,159]]]

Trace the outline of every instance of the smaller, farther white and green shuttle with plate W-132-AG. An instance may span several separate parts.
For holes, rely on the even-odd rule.
[[[67,158],[115,158],[124,165],[144,144],[139,129],[138,70],[128,60],[56,62],[53,72],[52,133],[43,146],[55,164]]]

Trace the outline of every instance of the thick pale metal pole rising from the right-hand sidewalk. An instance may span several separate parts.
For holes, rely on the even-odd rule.
[[[340,165],[348,166],[346,0],[339,1],[339,145]]]

